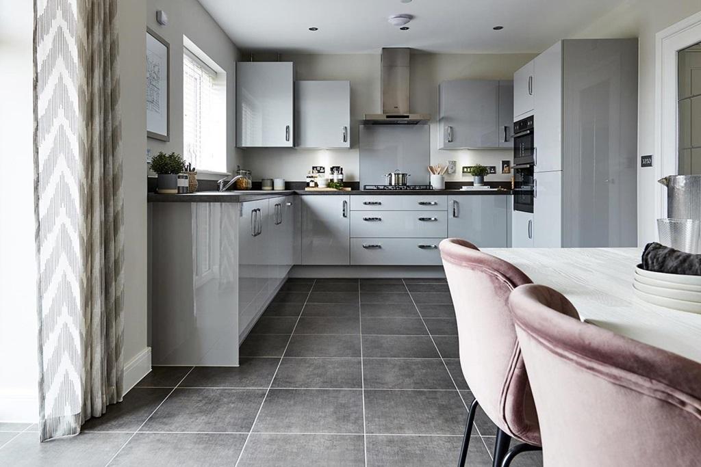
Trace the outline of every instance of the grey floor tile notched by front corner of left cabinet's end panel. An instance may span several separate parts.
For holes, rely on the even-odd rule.
[[[179,387],[268,388],[280,358],[240,358],[238,366],[195,367]]]

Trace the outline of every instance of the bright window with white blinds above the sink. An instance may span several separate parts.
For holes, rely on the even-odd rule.
[[[198,171],[226,172],[226,73],[194,48],[183,48],[183,158]]]

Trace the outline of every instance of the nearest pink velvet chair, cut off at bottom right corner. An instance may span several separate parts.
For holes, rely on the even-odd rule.
[[[546,466],[701,465],[701,364],[573,319],[552,288],[509,305]]]

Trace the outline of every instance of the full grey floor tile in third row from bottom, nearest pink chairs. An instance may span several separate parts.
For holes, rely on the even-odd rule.
[[[365,389],[455,389],[440,358],[367,358]]]

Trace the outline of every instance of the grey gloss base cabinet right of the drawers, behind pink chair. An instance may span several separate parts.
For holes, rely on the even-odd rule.
[[[454,195],[448,197],[448,237],[479,248],[508,246],[508,196]]]

